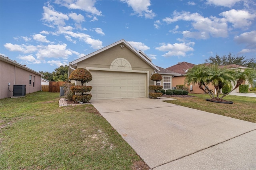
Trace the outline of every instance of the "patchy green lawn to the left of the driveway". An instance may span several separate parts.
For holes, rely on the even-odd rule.
[[[92,105],[59,107],[59,93],[0,100],[0,169],[148,169]]]

